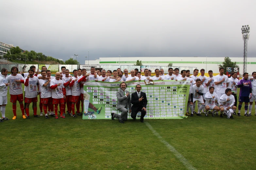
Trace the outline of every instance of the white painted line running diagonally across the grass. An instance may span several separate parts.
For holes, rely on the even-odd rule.
[[[157,133],[153,127],[148,123],[148,122],[145,122],[146,126],[153,132],[154,135],[156,135],[160,141],[165,144],[165,146],[171,151],[174,153],[174,155],[176,156],[176,158],[179,159],[179,161],[181,163],[183,163],[183,165],[187,168],[187,169],[191,169],[191,170],[196,170],[196,168],[191,165],[187,160],[186,158],[184,158],[184,156],[182,156],[173,146],[171,146],[168,142],[166,142],[166,140],[164,140],[162,138],[161,135],[159,135],[159,133]]]

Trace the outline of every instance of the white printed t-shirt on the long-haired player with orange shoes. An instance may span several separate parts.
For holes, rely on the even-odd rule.
[[[21,82],[16,82],[15,80],[24,80],[21,74],[17,74],[16,76],[9,75],[7,77],[9,85],[9,93],[12,95],[22,94],[22,85]]]

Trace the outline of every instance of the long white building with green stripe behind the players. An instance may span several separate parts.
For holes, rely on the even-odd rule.
[[[101,68],[105,69],[116,69],[115,67],[123,69],[126,67],[132,68],[133,64],[135,64],[137,60],[140,60],[145,66],[160,66],[161,68],[162,66],[165,66],[164,68],[168,68],[167,65],[172,63],[173,69],[179,67],[180,71],[181,69],[186,69],[186,67],[193,67],[190,68],[191,73],[193,73],[193,70],[191,69],[197,68],[200,72],[200,69],[204,68],[206,73],[208,73],[209,70],[213,70],[213,73],[218,74],[218,64],[222,64],[224,58],[225,57],[102,57],[97,60],[89,60],[89,64],[100,65]],[[232,62],[237,63],[240,68],[240,74],[243,74],[243,57],[230,57],[230,59]],[[88,60],[85,61],[85,64],[88,64]],[[108,65],[111,65],[111,67]],[[256,71],[255,66],[256,58],[248,57],[247,72],[249,74],[251,74],[253,71]],[[165,69],[165,73],[167,70]]]

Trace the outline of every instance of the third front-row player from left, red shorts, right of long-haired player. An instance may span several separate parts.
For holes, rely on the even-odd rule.
[[[39,84],[39,79],[34,76],[34,70],[29,69],[28,70],[28,75],[25,78],[24,85],[26,86],[25,89],[25,103],[26,103],[26,114],[27,114],[27,119],[30,119],[29,117],[29,105],[30,103],[33,102],[33,111],[34,111],[34,117],[39,118],[37,113],[37,84]],[[39,93],[39,92],[38,92]]]

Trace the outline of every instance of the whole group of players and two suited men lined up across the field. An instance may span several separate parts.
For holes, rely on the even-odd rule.
[[[136,92],[132,93],[131,98],[129,92],[126,90],[126,83],[129,81],[154,81],[154,80],[185,80],[190,81],[190,91],[188,96],[186,115],[205,116],[211,114],[212,116],[218,116],[220,111],[220,117],[226,115],[227,118],[233,118],[232,115],[240,116],[241,107],[243,102],[245,103],[244,115],[251,116],[252,104],[256,99],[256,72],[252,73],[252,78],[249,78],[248,73],[243,74],[242,79],[237,79],[237,73],[233,72],[231,77],[224,75],[224,68],[219,69],[219,75],[213,76],[213,71],[209,70],[209,77],[206,77],[205,70],[200,70],[200,76],[197,77],[199,70],[195,69],[193,75],[190,76],[190,70],[181,70],[179,74],[179,68],[169,68],[168,74],[164,75],[163,69],[155,69],[155,76],[151,77],[151,70],[145,68],[144,76],[136,68],[121,71],[120,68],[117,70],[105,69],[95,71],[95,67],[92,66],[90,73],[86,73],[86,69],[75,69],[73,75],[70,75],[70,71],[65,66],[61,67],[61,72],[57,72],[55,77],[51,76],[51,71],[47,70],[45,66],[42,67],[41,74],[36,71],[35,66],[31,66],[28,73],[23,73],[25,67],[18,73],[17,67],[11,68],[11,75],[7,75],[8,70],[3,68],[0,73],[0,110],[2,113],[3,120],[9,120],[5,117],[5,108],[7,105],[7,92],[9,86],[10,102],[12,103],[13,120],[17,118],[16,114],[16,103],[20,104],[23,119],[30,119],[29,105],[33,104],[33,115],[34,117],[43,116],[49,119],[48,115],[58,119],[58,105],[60,118],[65,118],[67,115],[77,117],[82,115],[99,114],[102,107],[96,108],[90,103],[90,95],[83,90],[83,84],[86,81],[105,81],[105,82],[121,82],[120,90],[117,92],[117,109],[121,112],[121,115],[111,113],[111,118],[118,118],[120,123],[124,123],[127,120],[128,108],[131,109],[131,118],[136,120],[137,113],[140,111],[140,121],[144,122],[144,116],[146,114],[146,93],[141,92],[141,86],[136,86]],[[25,85],[25,96],[23,98],[22,84]],[[239,105],[238,113],[236,113],[237,107],[237,88],[240,88],[239,93]],[[39,95],[40,102],[40,116],[37,115],[37,102]],[[24,105],[23,105],[24,101]],[[198,111],[195,112],[197,101]],[[131,104],[133,106],[131,107]],[[249,105],[248,105],[249,104]],[[255,102],[256,104],[256,102]],[[75,112],[75,106],[77,111]],[[67,111],[65,112],[67,108]],[[89,111],[91,108],[93,111]],[[249,111],[247,113],[247,110]],[[191,110],[191,114],[189,113]],[[256,105],[255,105],[256,109]],[[212,111],[211,111],[212,110]],[[202,112],[201,112],[202,111]],[[255,113],[256,116],[256,113]]]

